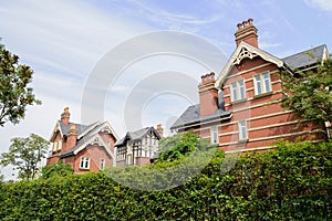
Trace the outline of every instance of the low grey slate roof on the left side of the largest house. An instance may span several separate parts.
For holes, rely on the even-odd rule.
[[[181,116],[172,125],[170,129],[186,128],[196,124],[224,120],[230,118],[231,113],[225,112],[221,108],[217,109],[214,114],[208,116],[200,116],[199,104],[189,106]]]

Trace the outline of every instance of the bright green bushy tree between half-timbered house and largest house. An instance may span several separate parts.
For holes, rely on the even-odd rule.
[[[216,146],[189,130],[162,139],[159,141],[160,154],[156,161],[174,161],[187,157],[193,151],[214,147]]]

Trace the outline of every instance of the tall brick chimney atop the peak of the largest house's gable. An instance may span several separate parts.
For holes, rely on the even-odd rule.
[[[258,48],[257,29],[253,27],[252,21],[252,19],[248,19],[248,21],[237,24],[238,30],[235,33],[237,46],[243,41]]]

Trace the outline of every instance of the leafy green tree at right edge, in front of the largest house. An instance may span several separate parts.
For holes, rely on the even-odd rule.
[[[332,57],[315,71],[281,74],[282,107],[315,124],[332,122]]]

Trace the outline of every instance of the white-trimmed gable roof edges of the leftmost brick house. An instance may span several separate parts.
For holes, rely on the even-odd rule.
[[[104,123],[93,123],[90,126],[86,126],[85,129],[81,133],[77,131],[77,143],[76,145],[70,149],[69,151],[62,152],[60,155],[60,158],[71,156],[71,155],[76,155],[81,150],[83,150],[87,145],[90,144],[98,144],[98,146],[106,147],[106,144],[102,139],[102,137],[98,135],[101,130],[110,130],[110,133],[118,139],[117,135],[115,134],[114,129],[111,127],[108,122]],[[108,155],[113,158],[113,152],[108,150],[108,148],[105,148]]]

